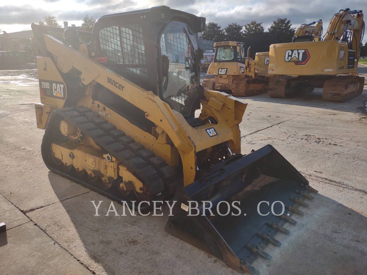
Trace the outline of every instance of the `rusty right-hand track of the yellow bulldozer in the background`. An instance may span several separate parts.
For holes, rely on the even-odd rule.
[[[241,78],[233,80],[232,95],[252,96],[268,92],[268,81],[261,78]]]

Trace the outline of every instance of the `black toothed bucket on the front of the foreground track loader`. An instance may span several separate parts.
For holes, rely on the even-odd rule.
[[[165,230],[238,272],[259,274],[251,264],[258,256],[271,258],[265,247],[281,245],[275,239],[278,231],[290,234],[284,224],[297,223],[291,215],[303,214],[298,205],[308,206],[305,198],[313,198],[309,191],[317,192],[273,146],[266,145],[248,155],[229,157],[177,191]]]

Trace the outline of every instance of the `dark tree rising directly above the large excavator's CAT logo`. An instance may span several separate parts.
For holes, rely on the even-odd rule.
[[[278,18],[276,21],[273,21],[268,31],[271,44],[288,43],[292,41],[295,28],[292,28],[292,23],[287,18]]]

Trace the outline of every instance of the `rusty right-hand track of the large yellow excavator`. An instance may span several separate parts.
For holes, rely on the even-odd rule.
[[[346,102],[362,94],[364,77],[335,76],[325,81],[322,98],[326,101]]]

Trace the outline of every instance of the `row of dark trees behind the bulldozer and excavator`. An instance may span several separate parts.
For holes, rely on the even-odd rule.
[[[278,18],[265,30],[263,22],[251,21],[246,25],[230,23],[222,28],[218,23],[209,22],[206,24],[203,39],[220,41],[243,42],[245,48],[251,46],[250,57],[254,58],[256,52],[267,52],[269,46],[276,43],[288,43],[292,41],[295,28],[287,18]]]

